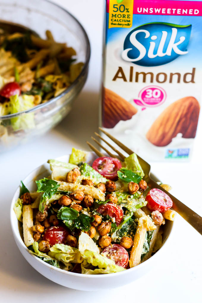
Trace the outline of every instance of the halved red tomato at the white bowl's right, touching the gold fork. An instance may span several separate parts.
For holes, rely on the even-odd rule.
[[[171,198],[161,189],[152,188],[147,196],[147,207],[149,210],[158,210],[164,212],[173,206],[173,201]]]

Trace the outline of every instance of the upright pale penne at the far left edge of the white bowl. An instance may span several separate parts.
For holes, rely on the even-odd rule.
[[[34,243],[33,232],[33,209],[31,205],[23,205],[22,210],[22,224],[25,245],[28,247]]]

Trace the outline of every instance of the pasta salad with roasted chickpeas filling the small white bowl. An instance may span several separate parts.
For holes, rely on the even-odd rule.
[[[81,274],[108,274],[137,266],[162,245],[162,226],[173,221],[171,198],[148,188],[136,154],[101,157],[72,149],[69,162],[48,160],[51,175],[22,182],[14,211],[29,253]],[[161,184],[167,190],[169,185]]]

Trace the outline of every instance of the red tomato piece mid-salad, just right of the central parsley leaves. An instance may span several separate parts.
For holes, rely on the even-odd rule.
[[[124,216],[122,208],[114,203],[106,203],[98,207],[97,211],[103,215],[109,215],[111,218],[115,218],[116,225],[118,226]]]

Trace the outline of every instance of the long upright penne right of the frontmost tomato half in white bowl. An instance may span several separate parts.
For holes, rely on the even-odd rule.
[[[133,240],[133,247],[131,249],[130,267],[134,267],[141,262],[141,254],[144,245],[146,232],[148,230],[149,218],[147,216],[139,218],[137,230]]]

